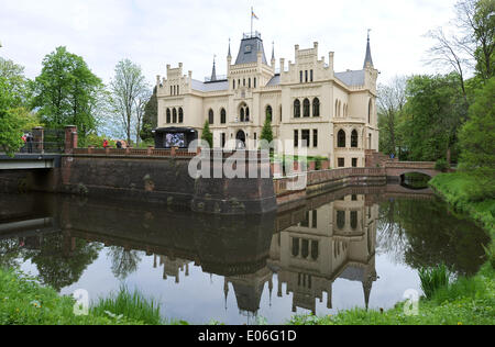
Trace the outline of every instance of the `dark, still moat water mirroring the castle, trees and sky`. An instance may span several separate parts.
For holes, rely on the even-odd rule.
[[[90,299],[122,283],[168,318],[285,323],[295,313],[388,309],[420,292],[417,269],[475,273],[488,237],[425,191],[321,195],[306,208],[215,217],[135,203],[0,195],[0,266]],[[403,190],[404,191],[404,190]]]

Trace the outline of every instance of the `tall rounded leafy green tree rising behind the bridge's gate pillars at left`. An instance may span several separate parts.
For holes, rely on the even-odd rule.
[[[43,69],[34,82],[33,107],[50,128],[76,125],[79,137],[95,131],[94,110],[102,82],[85,60],[65,47],[58,47],[43,59]]]

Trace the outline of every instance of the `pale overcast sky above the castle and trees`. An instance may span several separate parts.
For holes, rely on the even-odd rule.
[[[0,0],[0,56],[25,67],[34,78],[57,46],[80,55],[108,82],[116,64],[129,58],[147,80],[184,64],[195,79],[227,71],[229,38],[235,59],[242,33],[250,32],[251,7],[258,16],[267,59],[275,42],[280,57],[294,60],[294,46],[319,56],[336,52],[336,70],[361,69],[366,33],[380,82],[396,75],[432,72],[422,63],[428,30],[454,16],[455,0]]]

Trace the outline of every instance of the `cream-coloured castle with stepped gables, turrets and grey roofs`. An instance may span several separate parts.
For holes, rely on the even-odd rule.
[[[308,156],[330,159],[337,167],[364,167],[365,150],[378,149],[376,80],[370,35],[363,69],[336,72],[334,53],[328,61],[312,48],[295,46],[295,61],[268,63],[260,33],[244,34],[237,59],[231,48],[227,76],[199,81],[167,65],[166,78],[157,76],[158,132],[164,147],[187,147],[201,136],[208,121],[213,147],[257,149],[265,120],[272,122],[275,139]]]

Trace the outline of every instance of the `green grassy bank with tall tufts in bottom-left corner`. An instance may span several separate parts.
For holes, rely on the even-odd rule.
[[[99,299],[88,315],[75,315],[75,301],[42,287],[22,272],[0,269],[0,325],[186,325],[165,321],[160,304],[122,287]]]

